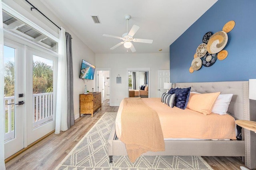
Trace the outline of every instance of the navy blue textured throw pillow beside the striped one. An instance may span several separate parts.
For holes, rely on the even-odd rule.
[[[188,104],[188,99],[190,95],[190,89],[191,87],[188,88],[171,88],[169,90],[169,94],[176,94],[176,99],[175,99],[175,105],[176,107],[179,107],[181,109],[185,109]]]

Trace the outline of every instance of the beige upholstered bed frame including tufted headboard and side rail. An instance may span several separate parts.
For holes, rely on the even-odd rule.
[[[235,119],[256,120],[256,102],[249,100],[248,81],[176,83],[174,86],[191,87],[191,92],[233,94],[228,113]],[[243,129],[242,134],[242,141],[164,141],[164,152],[146,152],[142,155],[242,156],[245,166],[254,169],[256,168],[256,133]],[[108,139],[110,163],[112,156],[121,155],[127,155],[127,152],[124,143],[116,140],[116,126],[114,125]]]

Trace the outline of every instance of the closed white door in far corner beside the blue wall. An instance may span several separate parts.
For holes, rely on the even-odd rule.
[[[158,98],[162,96],[163,93],[167,91],[164,89],[164,83],[170,82],[170,70],[158,70],[157,71],[158,79]]]

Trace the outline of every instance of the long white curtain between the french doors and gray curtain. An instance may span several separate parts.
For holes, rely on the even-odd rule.
[[[58,80],[56,98],[56,127],[55,133],[68,130],[67,125],[67,57],[65,29],[59,30],[58,42]]]

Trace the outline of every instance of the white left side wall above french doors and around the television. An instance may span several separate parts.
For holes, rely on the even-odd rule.
[[[31,6],[24,0],[2,0],[5,4],[12,7],[14,10],[36,23],[55,37],[58,37],[58,28],[48,21],[36,10],[30,10]],[[78,36],[72,31],[72,28],[66,27],[66,25],[58,19],[44,4],[39,0],[30,0],[30,2],[38,8],[43,14],[45,14],[50,20],[52,20],[59,27],[63,27],[66,32],[72,36],[72,55],[73,55],[73,70],[74,70],[74,115],[75,119],[79,117],[79,94],[84,93],[84,83],[79,78],[82,59],[95,65],[94,52],[83,43]],[[94,80],[86,80],[86,86],[88,89],[95,89]]]

